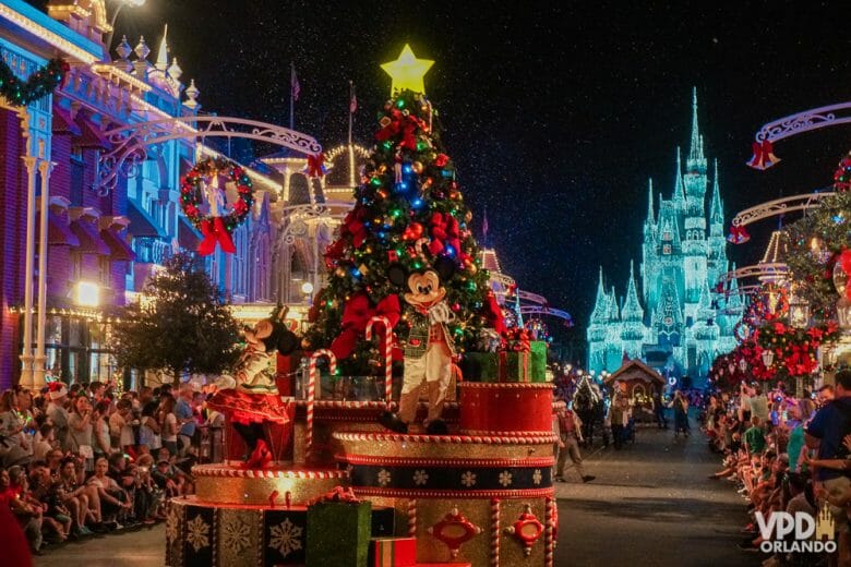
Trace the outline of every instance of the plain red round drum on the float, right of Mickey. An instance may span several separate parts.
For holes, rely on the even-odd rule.
[[[551,433],[552,384],[464,382],[460,433]]]

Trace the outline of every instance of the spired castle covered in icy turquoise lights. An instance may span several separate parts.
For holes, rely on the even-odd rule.
[[[613,372],[627,358],[642,359],[663,376],[690,376],[698,386],[712,360],[735,347],[742,310],[735,280],[716,289],[730,270],[717,161],[707,196],[709,183],[695,89],[685,168],[678,148],[673,194],[666,200],[660,193],[658,209],[649,181],[643,261],[637,273],[631,264],[626,295],[607,287],[600,268],[588,325],[589,370]]]

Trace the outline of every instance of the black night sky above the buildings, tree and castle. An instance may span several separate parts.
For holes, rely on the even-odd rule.
[[[121,12],[116,40],[144,34],[156,50],[167,22],[204,110],[279,123],[293,61],[296,129],[325,147],[345,141],[349,80],[356,137],[371,145],[389,91],[379,64],[409,43],[435,60],[427,92],[476,222],[487,206],[505,270],[571,312],[565,338],[584,340],[598,266],[623,294],[640,257],[647,178],[670,196],[693,85],[728,220],[829,184],[851,147],[851,130],[835,126],[778,143],[769,171],[745,166],[763,123],[851,96],[849,4],[716,3],[147,0]],[[758,260],[776,225],[750,227],[731,257]]]

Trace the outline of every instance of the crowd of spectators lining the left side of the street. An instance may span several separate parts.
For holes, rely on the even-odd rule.
[[[221,426],[190,384],[118,393],[93,382],[0,395],[0,506],[31,550],[165,519],[193,492],[201,425]]]

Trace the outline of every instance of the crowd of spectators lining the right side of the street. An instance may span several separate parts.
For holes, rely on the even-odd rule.
[[[751,521],[742,528],[742,550],[760,550],[759,519],[772,526],[770,516],[780,511],[815,519],[827,506],[837,532],[837,552],[829,562],[851,565],[851,371],[838,372],[835,386],[805,388],[801,397],[781,383],[774,389],[743,384],[738,391],[709,397],[704,426],[709,447],[723,456],[721,470],[710,479],[733,483],[747,506]],[[769,541],[791,543],[794,536],[774,533]],[[763,565],[826,560],[812,552],[774,553]]]

